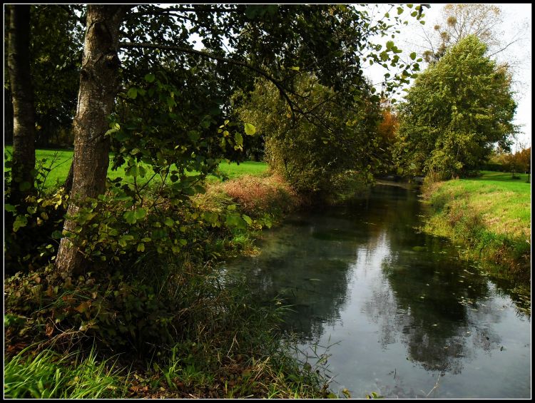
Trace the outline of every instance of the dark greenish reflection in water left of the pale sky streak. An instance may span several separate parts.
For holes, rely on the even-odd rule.
[[[240,267],[261,301],[278,296],[292,305],[285,315],[285,329],[312,340],[340,320],[355,248],[370,235],[343,214],[319,213],[309,220],[296,216],[292,223],[266,232],[260,256],[236,260],[233,266]]]

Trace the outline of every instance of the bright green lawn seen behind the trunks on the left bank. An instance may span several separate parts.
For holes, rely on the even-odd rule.
[[[4,151],[7,151],[11,154],[12,147],[5,146]],[[5,159],[4,153],[4,159]],[[47,175],[45,188],[55,188],[57,185],[62,185],[65,182],[65,179],[68,175],[68,170],[71,168],[71,162],[73,158],[73,151],[69,150],[36,150],[36,161],[39,163],[40,160],[46,158],[46,163],[44,167],[51,168],[51,171]],[[54,159],[56,158],[56,159]],[[148,167],[146,167],[148,168]],[[233,179],[237,178],[240,175],[264,175],[267,173],[267,164],[262,162],[255,161],[245,161],[243,163],[226,163],[223,162],[220,164],[219,169],[221,173],[228,176],[228,178]],[[151,173],[152,170],[148,168],[148,172]],[[195,175],[195,173],[191,173]],[[121,176],[125,178],[125,170],[123,167],[118,168],[118,170],[108,169],[108,178],[114,179]],[[209,177],[210,181],[217,180],[215,177]]]

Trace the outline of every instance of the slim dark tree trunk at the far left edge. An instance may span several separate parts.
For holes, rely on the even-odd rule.
[[[35,118],[30,74],[30,6],[9,7],[8,69],[13,99],[11,203],[34,192]]]

